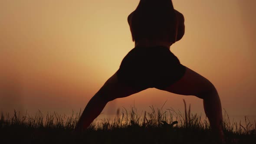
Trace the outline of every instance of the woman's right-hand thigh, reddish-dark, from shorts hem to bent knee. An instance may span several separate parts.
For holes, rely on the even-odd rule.
[[[161,90],[203,98],[205,94],[216,91],[216,88],[208,79],[186,67],[185,74],[180,80]]]

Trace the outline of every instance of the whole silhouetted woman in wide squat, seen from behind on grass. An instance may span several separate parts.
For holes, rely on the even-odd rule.
[[[86,105],[77,123],[85,129],[101,113],[108,101],[124,98],[147,88],[203,99],[212,130],[223,140],[222,108],[214,85],[202,75],[182,65],[170,46],[184,35],[184,16],[174,10],[171,0],[140,0],[128,16],[135,48],[122,60]]]

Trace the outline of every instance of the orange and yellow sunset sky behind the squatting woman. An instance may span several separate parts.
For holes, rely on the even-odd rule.
[[[0,111],[69,114],[89,99],[134,48],[127,16],[139,0],[0,0]],[[185,35],[171,51],[209,79],[230,115],[256,114],[255,0],[173,0]],[[154,88],[108,103],[149,111],[203,113],[202,100]]]

